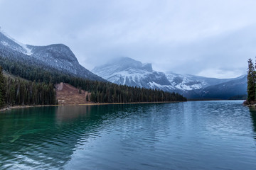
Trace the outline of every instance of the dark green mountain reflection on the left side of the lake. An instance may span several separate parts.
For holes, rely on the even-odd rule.
[[[77,145],[94,140],[132,105],[23,108],[0,114],[0,162],[11,169],[64,166]],[[119,114],[119,111],[122,113]],[[20,162],[22,162],[22,167]],[[2,166],[0,164],[0,166]]]

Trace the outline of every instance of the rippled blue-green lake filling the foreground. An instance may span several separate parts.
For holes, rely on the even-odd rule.
[[[255,169],[242,101],[52,106],[0,113],[0,169]]]

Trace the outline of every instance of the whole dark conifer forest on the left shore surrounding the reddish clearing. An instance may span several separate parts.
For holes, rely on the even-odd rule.
[[[28,80],[4,78],[1,74],[1,79],[4,79],[0,84],[1,106],[54,104],[56,99],[53,84],[60,82],[90,91],[89,100],[97,103],[186,101],[186,98],[177,93],[82,79],[56,69],[36,67],[1,55],[0,65],[6,72]]]

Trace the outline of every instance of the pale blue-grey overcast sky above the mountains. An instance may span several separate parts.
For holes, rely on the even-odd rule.
[[[0,26],[29,45],[63,43],[87,69],[114,57],[161,72],[230,78],[256,56],[255,0],[0,0]]]

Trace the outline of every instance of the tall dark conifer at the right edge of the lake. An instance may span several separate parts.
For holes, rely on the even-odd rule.
[[[248,72],[247,72],[247,101],[255,101],[255,67],[252,63],[252,59],[248,60]]]

